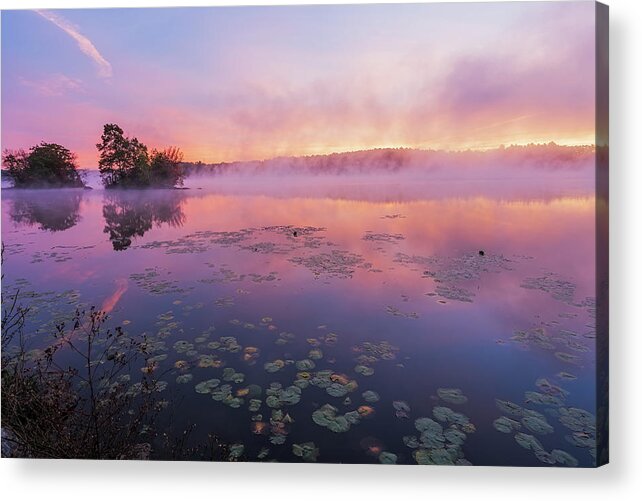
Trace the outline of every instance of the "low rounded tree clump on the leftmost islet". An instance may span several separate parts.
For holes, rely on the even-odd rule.
[[[76,154],[64,146],[42,142],[25,150],[5,150],[2,162],[16,188],[82,187]]]

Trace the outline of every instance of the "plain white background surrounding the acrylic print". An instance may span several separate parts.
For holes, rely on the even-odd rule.
[[[190,0],[187,5],[244,3]],[[642,499],[642,316],[637,317],[642,313],[642,1],[607,3],[611,16],[611,464],[596,470],[566,470],[3,459],[0,495],[47,501]],[[179,3],[172,0],[0,0],[2,9],[175,5]]]

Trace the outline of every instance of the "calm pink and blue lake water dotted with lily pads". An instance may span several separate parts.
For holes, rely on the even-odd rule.
[[[381,451],[449,462],[445,450],[542,466],[563,450],[593,464],[578,446],[592,441],[590,416],[560,421],[567,409],[594,414],[590,183],[188,184],[3,191],[3,288],[37,308],[34,347],[79,304],[108,311],[110,325],[161,341],[176,429],[195,423],[195,439],[216,433],[248,460],[268,448],[264,460],[300,461],[292,444],[314,442],[320,462],[378,462]],[[224,381],[229,368],[243,381]],[[285,391],[268,399],[271,383]],[[258,410],[249,385],[262,389]],[[498,431],[500,416],[515,429]],[[270,430],[271,417],[282,424]],[[443,427],[430,445],[422,417]]]

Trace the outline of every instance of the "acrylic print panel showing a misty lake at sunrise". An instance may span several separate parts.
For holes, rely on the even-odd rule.
[[[3,456],[607,462],[607,16],[2,12]]]

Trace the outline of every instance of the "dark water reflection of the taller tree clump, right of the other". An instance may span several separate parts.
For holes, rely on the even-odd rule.
[[[114,250],[126,250],[133,238],[142,237],[153,226],[183,226],[183,201],[182,194],[171,190],[109,191],[103,205],[103,231]]]

